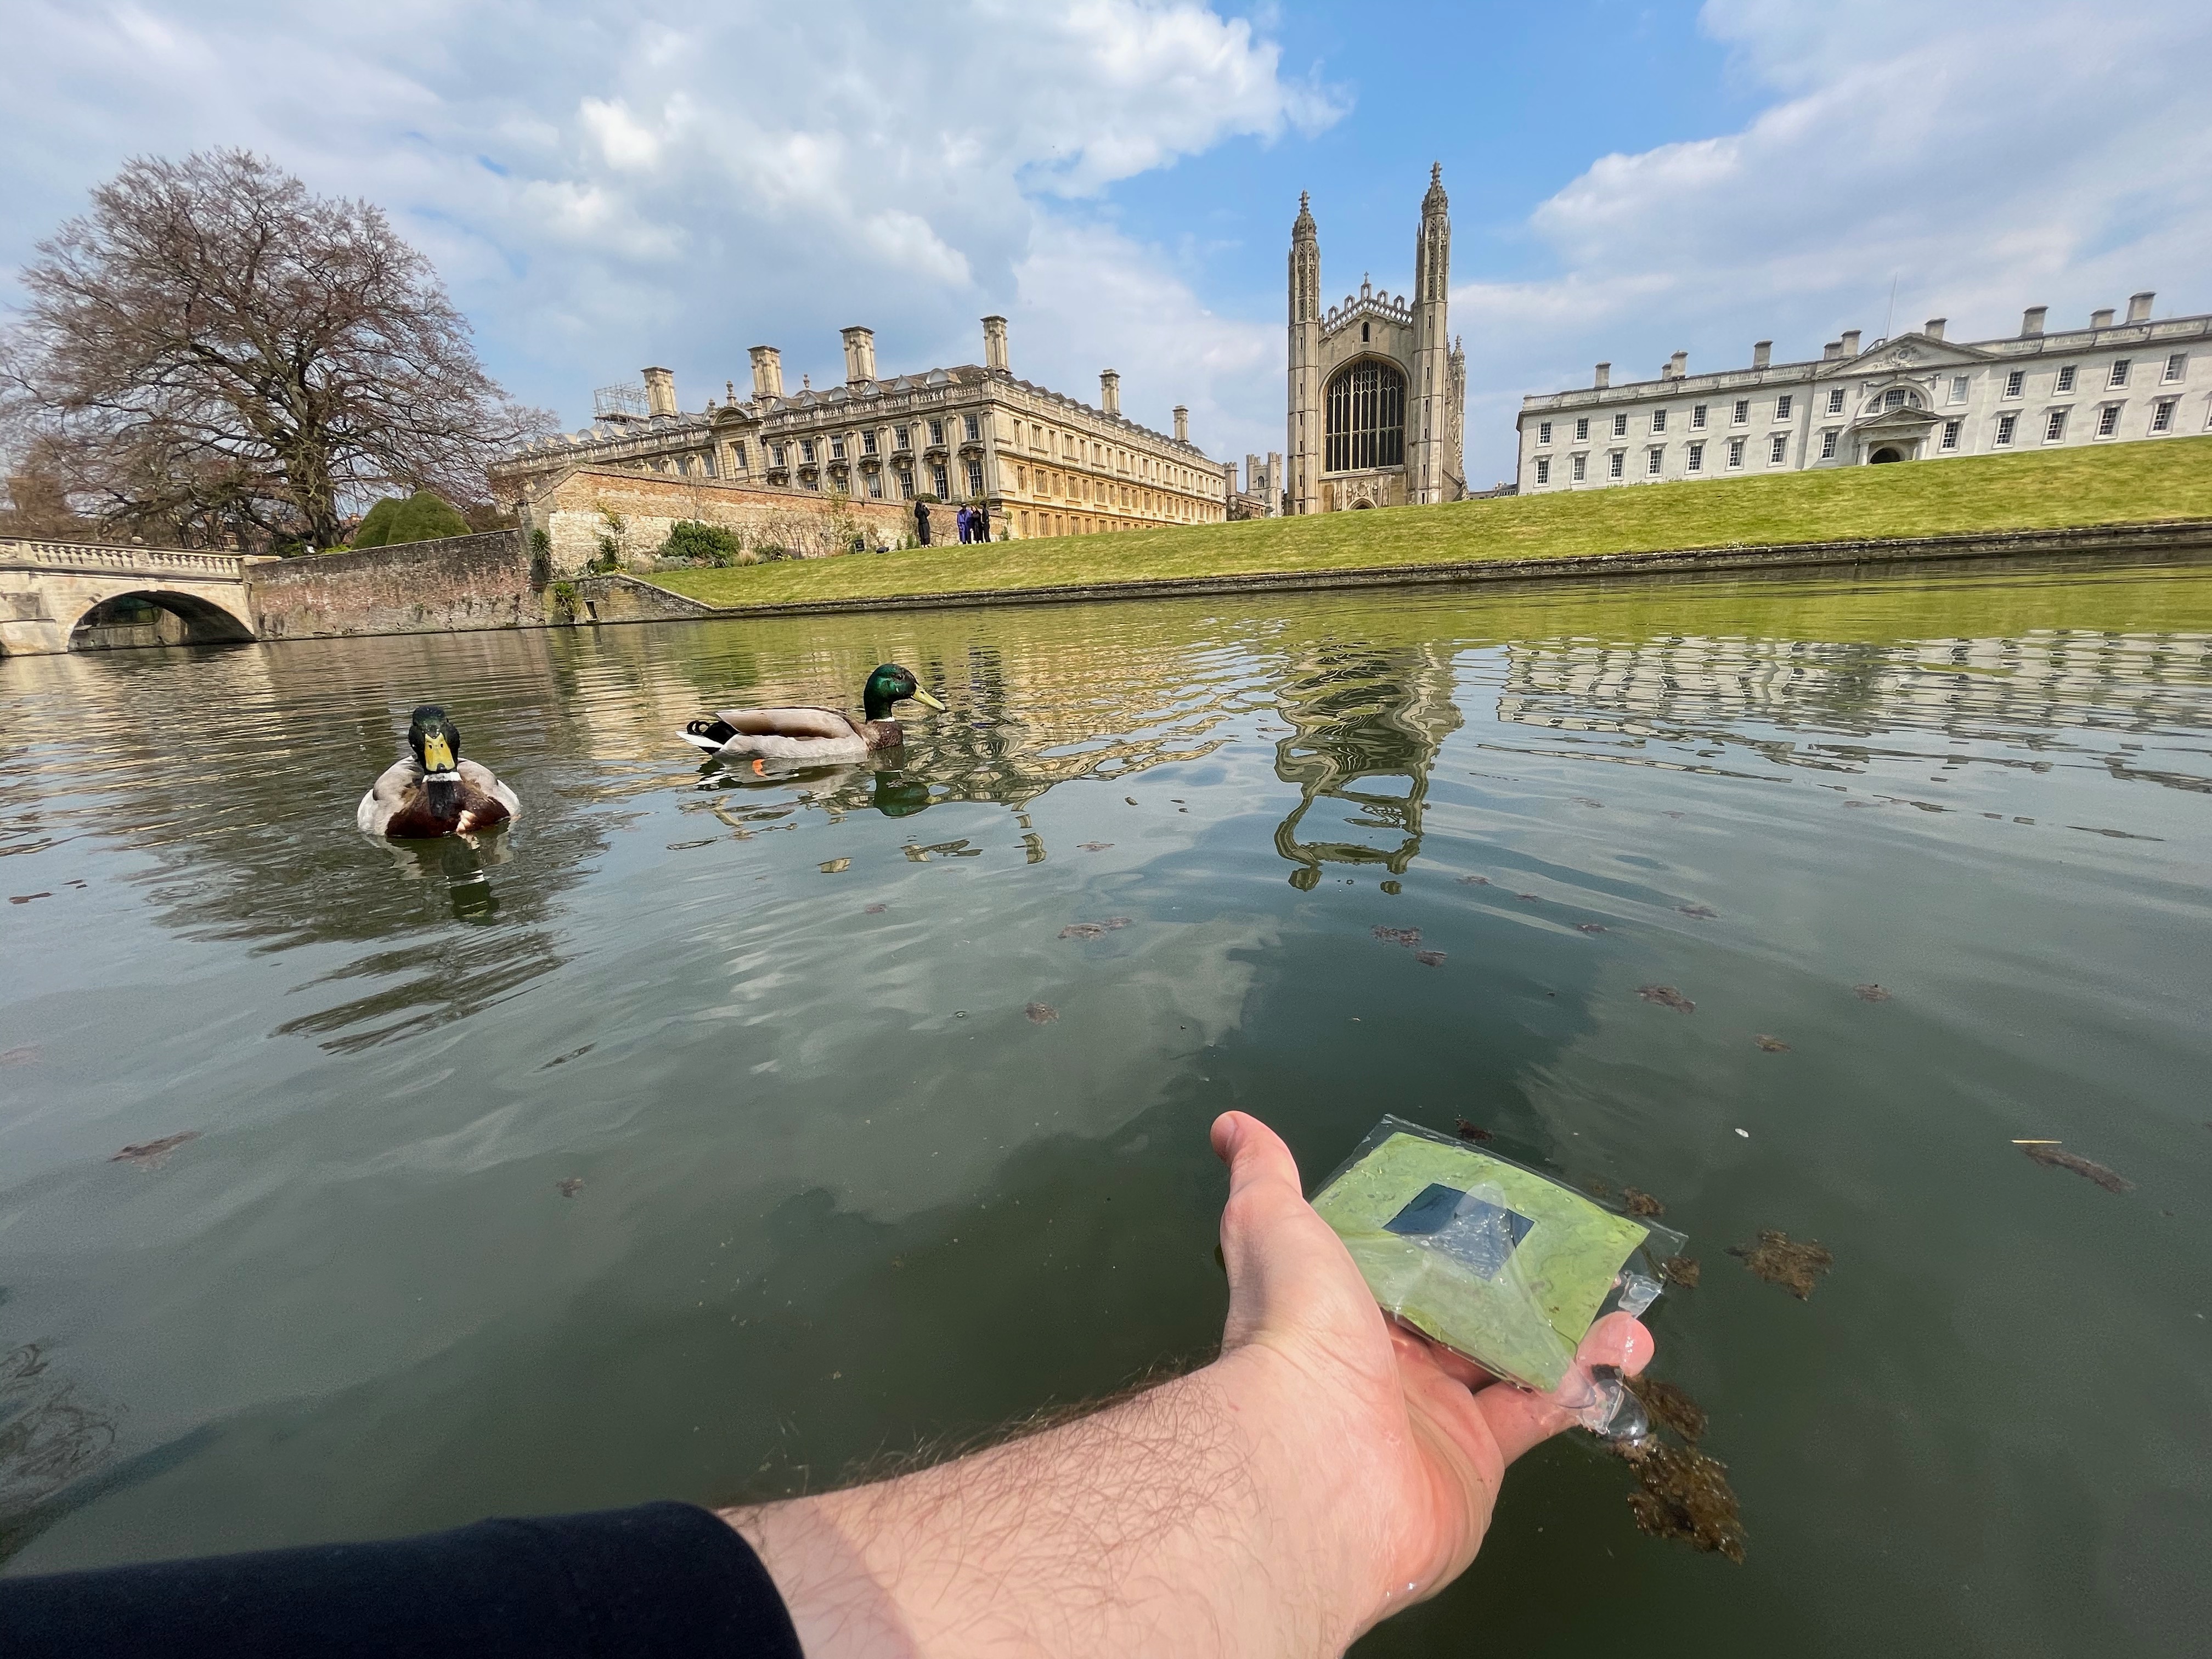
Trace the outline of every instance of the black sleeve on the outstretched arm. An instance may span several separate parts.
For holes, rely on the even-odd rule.
[[[803,1659],[759,1557],[690,1504],[0,1579],[0,1652]]]

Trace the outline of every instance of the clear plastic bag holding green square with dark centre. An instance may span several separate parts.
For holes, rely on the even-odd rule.
[[[1376,1124],[1314,1194],[1383,1310],[1491,1376],[1641,1438],[1617,1367],[1575,1365],[1604,1314],[1659,1298],[1683,1234],[1402,1117]]]

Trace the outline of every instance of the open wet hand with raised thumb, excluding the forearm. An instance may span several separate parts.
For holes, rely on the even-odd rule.
[[[1334,1566],[1358,1635],[1467,1571],[1506,1464],[1573,1416],[1557,1396],[1498,1383],[1389,1321],[1305,1201],[1272,1128],[1225,1113],[1212,1144],[1230,1166],[1230,1314],[1217,1365],[1250,1374],[1230,1398],[1279,1453],[1265,1464],[1294,1484],[1265,1506],[1283,1533],[1281,1559]],[[1610,1314],[1584,1338],[1575,1369],[1619,1365],[1632,1376],[1650,1356],[1650,1332]]]

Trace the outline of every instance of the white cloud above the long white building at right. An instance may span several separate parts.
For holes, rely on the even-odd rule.
[[[1818,356],[2026,305],[2088,321],[2141,288],[2212,310],[2212,7],[1708,0],[1734,73],[1772,93],[1743,131],[1608,155],[1528,232],[1553,272],[1453,290],[1469,347],[1469,471],[1511,476],[1522,392]],[[1896,314],[1889,292],[1896,281]]]

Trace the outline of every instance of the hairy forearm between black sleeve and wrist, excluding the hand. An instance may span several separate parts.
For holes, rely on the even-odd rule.
[[[1283,1371],[1241,1349],[938,1469],[726,1517],[816,1659],[1340,1652],[1376,1590],[1363,1506],[1270,1431]],[[1347,1531],[1281,1524],[1314,1513]]]

